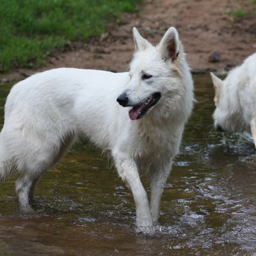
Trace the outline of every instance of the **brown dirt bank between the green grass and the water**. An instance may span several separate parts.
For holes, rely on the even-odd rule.
[[[238,18],[230,14],[234,10],[247,14]],[[256,52],[256,3],[252,0],[145,0],[140,12],[125,14],[122,24],[109,27],[101,38],[71,45],[49,58],[45,67],[20,68],[4,75],[2,81],[55,67],[125,71],[134,49],[134,26],[154,44],[166,29],[175,26],[195,73],[229,70]],[[211,63],[209,56],[214,51],[220,52],[220,61]]]

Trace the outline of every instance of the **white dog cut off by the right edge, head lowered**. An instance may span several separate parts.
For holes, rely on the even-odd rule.
[[[218,130],[252,132],[256,146],[256,53],[225,80],[211,73],[215,88],[214,126]]]

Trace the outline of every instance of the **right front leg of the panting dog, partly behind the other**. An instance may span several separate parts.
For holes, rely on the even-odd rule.
[[[159,211],[161,205],[161,196],[163,194],[164,184],[170,174],[172,163],[159,164],[150,170],[151,174],[151,198],[150,198],[150,212],[153,220],[153,225],[157,224],[159,218]]]

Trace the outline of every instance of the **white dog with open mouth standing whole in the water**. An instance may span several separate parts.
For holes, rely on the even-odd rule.
[[[0,134],[0,177],[20,172],[15,189],[22,211],[32,210],[29,200],[42,173],[85,135],[111,152],[134,196],[136,225],[157,223],[164,183],[193,108],[193,81],[175,28],[156,47],[136,28],[133,33],[129,72],[58,68],[13,86]],[[139,167],[151,174],[150,204]]]

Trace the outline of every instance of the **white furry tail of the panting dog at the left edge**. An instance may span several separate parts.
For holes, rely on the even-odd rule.
[[[9,156],[4,143],[3,131],[0,133],[0,182],[15,172],[13,159]]]

